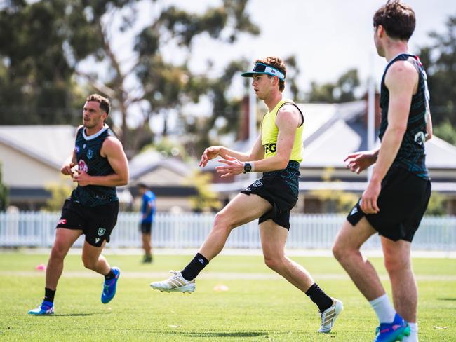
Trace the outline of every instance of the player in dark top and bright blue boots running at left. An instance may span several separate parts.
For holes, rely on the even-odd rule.
[[[54,295],[62,275],[63,260],[79,235],[85,234],[82,261],[86,268],[105,276],[101,301],[116,294],[120,270],[111,267],[101,252],[116,225],[119,200],[116,186],[128,182],[128,162],[122,144],[105,124],[109,100],[90,95],[83,107],[83,125],[76,132],[74,151],[60,172],[70,175],[77,187],[65,200],[46,267],[46,287],[41,306],[32,315],[54,313]],[[77,165],[77,170],[75,167]]]

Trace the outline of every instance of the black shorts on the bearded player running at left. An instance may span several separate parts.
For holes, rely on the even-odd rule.
[[[80,229],[86,235],[89,245],[101,247],[103,241],[109,242],[109,236],[117,223],[118,213],[117,201],[86,207],[67,199],[56,228]]]

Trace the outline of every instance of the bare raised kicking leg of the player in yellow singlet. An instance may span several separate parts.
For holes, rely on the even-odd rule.
[[[233,228],[257,219],[271,208],[271,203],[260,196],[239,193],[215,215],[213,228],[199,253],[210,261],[222,251]]]

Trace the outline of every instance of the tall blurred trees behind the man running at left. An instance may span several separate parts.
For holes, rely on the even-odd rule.
[[[233,43],[244,32],[259,33],[246,14],[247,2],[223,0],[200,14],[153,1],[150,22],[135,33],[135,0],[6,1],[0,11],[0,100],[10,111],[21,104],[21,117],[1,116],[2,123],[80,122],[81,102],[95,90],[112,98],[120,115],[117,132],[126,149],[136,151],[152,138],[152,116],[180,111],[211,86],[206,75],[188,67],[197,36]],[[113,39],[127,33],[135,35],[135,44],[125,62]],[[184,62],[166,60],[163,51],[170,46],[185,56]],[[88,62],[93,69],[84,68]],[[81,79],[86,88],[76,83]],[[59,109],[72,108],[74,118],[59,115]],[[140,117],[130,128],[133,111]],[[164,127],[166,135],[166,121]]]

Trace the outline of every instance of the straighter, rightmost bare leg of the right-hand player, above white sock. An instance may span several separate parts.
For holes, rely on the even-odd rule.
[[[382,237],[384,266],[387,268],[394,308],[408,322],[417,321],[418,290],[410,260],[410,242]]]

